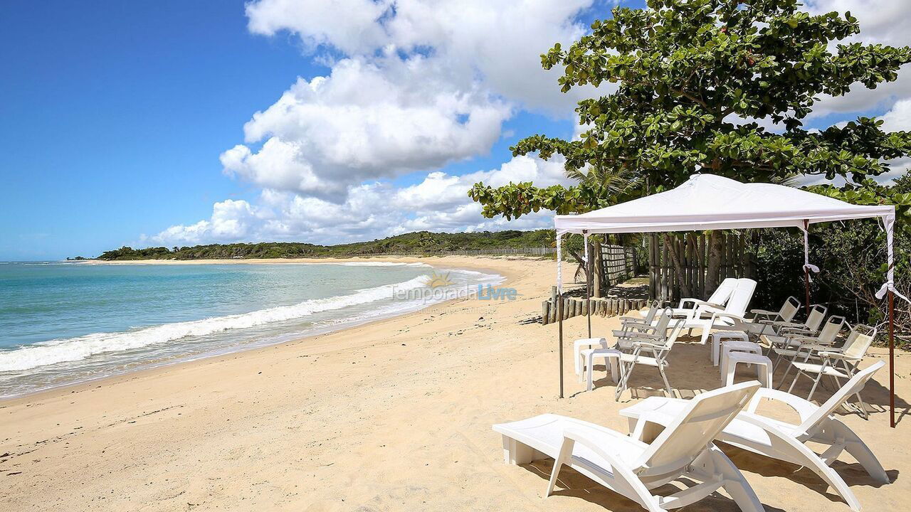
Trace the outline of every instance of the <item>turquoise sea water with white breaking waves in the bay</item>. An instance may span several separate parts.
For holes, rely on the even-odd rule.
[[[0,396],[415,311],[433,271],[453,290],[502,281],[421,263],[0,263]]]

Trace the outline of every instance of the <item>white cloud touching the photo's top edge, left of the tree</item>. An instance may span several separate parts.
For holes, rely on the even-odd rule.
[[[327,45],[347,56],[372,56],[392,45],[408,55],[429,55],[461,77],[463,86],[480,79],[496,95],[564,115],[586,92],[560,93],[559,70],[542,69],[539,55],[582,36],[588,27],[576,16],[594,3],[259,0],[247,6],[247,15],[252,32],[271,36],[285,30],[308,50]]]

